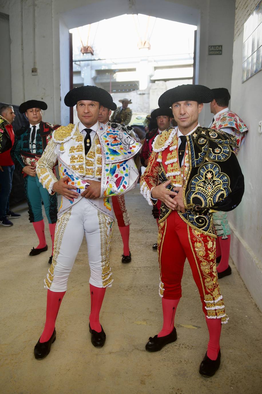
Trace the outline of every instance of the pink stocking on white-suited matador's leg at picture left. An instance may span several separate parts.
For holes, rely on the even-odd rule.
[[[47,291],[47,302],[46,302],[46,324],[44,331],[41,335],[40,342],[47,342],[55,329],[55,320],[64,297],[65,292],[56,293]]]

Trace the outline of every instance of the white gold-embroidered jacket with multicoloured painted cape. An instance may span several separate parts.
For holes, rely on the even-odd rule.
[[[39,181],[53,194],[53,184],[57,182],[52,168],[58,162],[60,177],[69,177],[68,184],[77,187],[79,197],[69,201],[62,197],[59,214],[66,212],[79,201],[81,193],[88,187],[88,179],[101,181],[101,193],[98,199],[87,199],[99,211],[114,218],[111,196],[132,190],[139,177],[133,156],[141,144],[123,130],[110,125],[99,124],[90,151],[84,154],[84,136],[79,132],[78,124],[61,126],[53,132],[36,171]]]

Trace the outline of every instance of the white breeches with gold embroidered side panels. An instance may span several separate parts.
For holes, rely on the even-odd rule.
[[[84,234],[91,271],[89,283],[96,287],[111,286],[109,257],[113,228],[114,220],[95,209],[85,198],[62,214],[55,228],[53,259],[45,287],[53,292],[67,290],[68,277]]]

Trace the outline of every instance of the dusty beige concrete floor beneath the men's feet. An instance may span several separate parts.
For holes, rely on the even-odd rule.
[[[212,378],[198,373],[208,332],[196,285],[186,262],[183,297],[176,314],[178,340],[160,352],[148,353],[145,343],[161,329],[159,269],[152,244],[157,227],[139,188],[126,196],[132,218],[132,262],[121,264],[122,244],[115,226],[111,266],[112,288],[106,290],[101,323],[106,344],[90,342],[88,315],[89,267],[83,241],[57,318],[57,339],[44,360],[33,348],[45,321],[43,279],[50,251],[36,257],[37,245],[27,209],[0,228],[1,240],[1,377],[2,394],[258,394],[262,392],[262,314],[231,261],[232,275],[220,281],[229,323],[222,327],[220,369]],[[49,250],[50,236],[46,226]]]

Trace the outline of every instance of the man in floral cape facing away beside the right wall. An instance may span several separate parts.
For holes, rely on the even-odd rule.
[[[235,154],[238,154],[240,147],[246,139],[247,126],[235,112],[229,110],[229,91],[225,87],[218,87],[211,90],[214,99],[210,103],[210,110],[214,114],[214,117],[210,128],[232,134],[238,144],[238,147],[234,151]],[[220,279],[231,275],[231,267],[229,266],[231,230],[227,220],[227,212],[214,212],[213,221],[217,235],[217,262],[219,262],[216,269],[218,271],[218,278]]]

